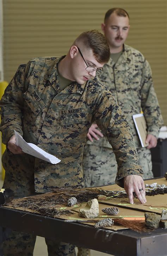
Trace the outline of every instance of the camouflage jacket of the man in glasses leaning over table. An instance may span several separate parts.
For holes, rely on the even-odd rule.
[[[73,82],[60,91],[56,57],[40,57],[20,65],[7,86],[1,105],[2,142],[7,145],[14,129],[25,139],[55,155],[61,162],[53,165],[30,155],[5,151],[6,172],[21,184],[35,176],[35,190],[47,192],[55,187],[83,185],[82,154],[92,122],[97,122],[111,143],[118,161],[117,183],[123,177],[143,175],[126,117],[112,94],[98,78],[80,85]],[[7,164],[6,164],[7,163]],[[14,167],[13,167],[14,166]]]

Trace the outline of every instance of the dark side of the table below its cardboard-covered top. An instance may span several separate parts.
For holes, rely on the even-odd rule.
[[[162,228],[141,234],[132,230],[96,229],[86,224],[66,223],[62,219],[43,217],[2,206],[0,226],[113,255],[167,255],[167,231]]]

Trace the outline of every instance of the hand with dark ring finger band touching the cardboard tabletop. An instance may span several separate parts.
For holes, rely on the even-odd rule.
[[[124,189],[125,189],[126,193],[128,194],[129,202],[131,204],[134,203],[133,192],[136,193],[136,196],[141,203],[147,202],[145,185],[144,185],[144,181],[141,176],[128,175],[128,176],[124,177]],[[141,191],[139,191],[139,190],[141,190]]]

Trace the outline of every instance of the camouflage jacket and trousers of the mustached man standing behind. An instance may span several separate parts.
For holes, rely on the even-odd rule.
[[[115,62],[110,58],[103,67],[100,79],[112,92],[117,104],[126,115],[136,144],[143,178],[153,178],[150,150],[141,147],[132,115],[144,113],[147,133],[158,138],[163,124],[159,103],[153,87],[151,68],[140,51],[124,45],[122,54]],[[87,140],[83,151],[85,187],[115,183],[117,162],[112,146],[104,136],[99,141]]]

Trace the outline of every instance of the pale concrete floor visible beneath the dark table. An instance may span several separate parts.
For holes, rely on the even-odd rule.
[[[2,184],[3,184],[3,181],[0,179],[0,189],[2,188]],[[76,252],[77,252],[77,249],[76,249]],[[109,255],[109,254],[91,250],[91,256],[106,256],[106,255]],[[33,256],[48,256],[47,245],[45,244],[44,237],[37,236]]]

